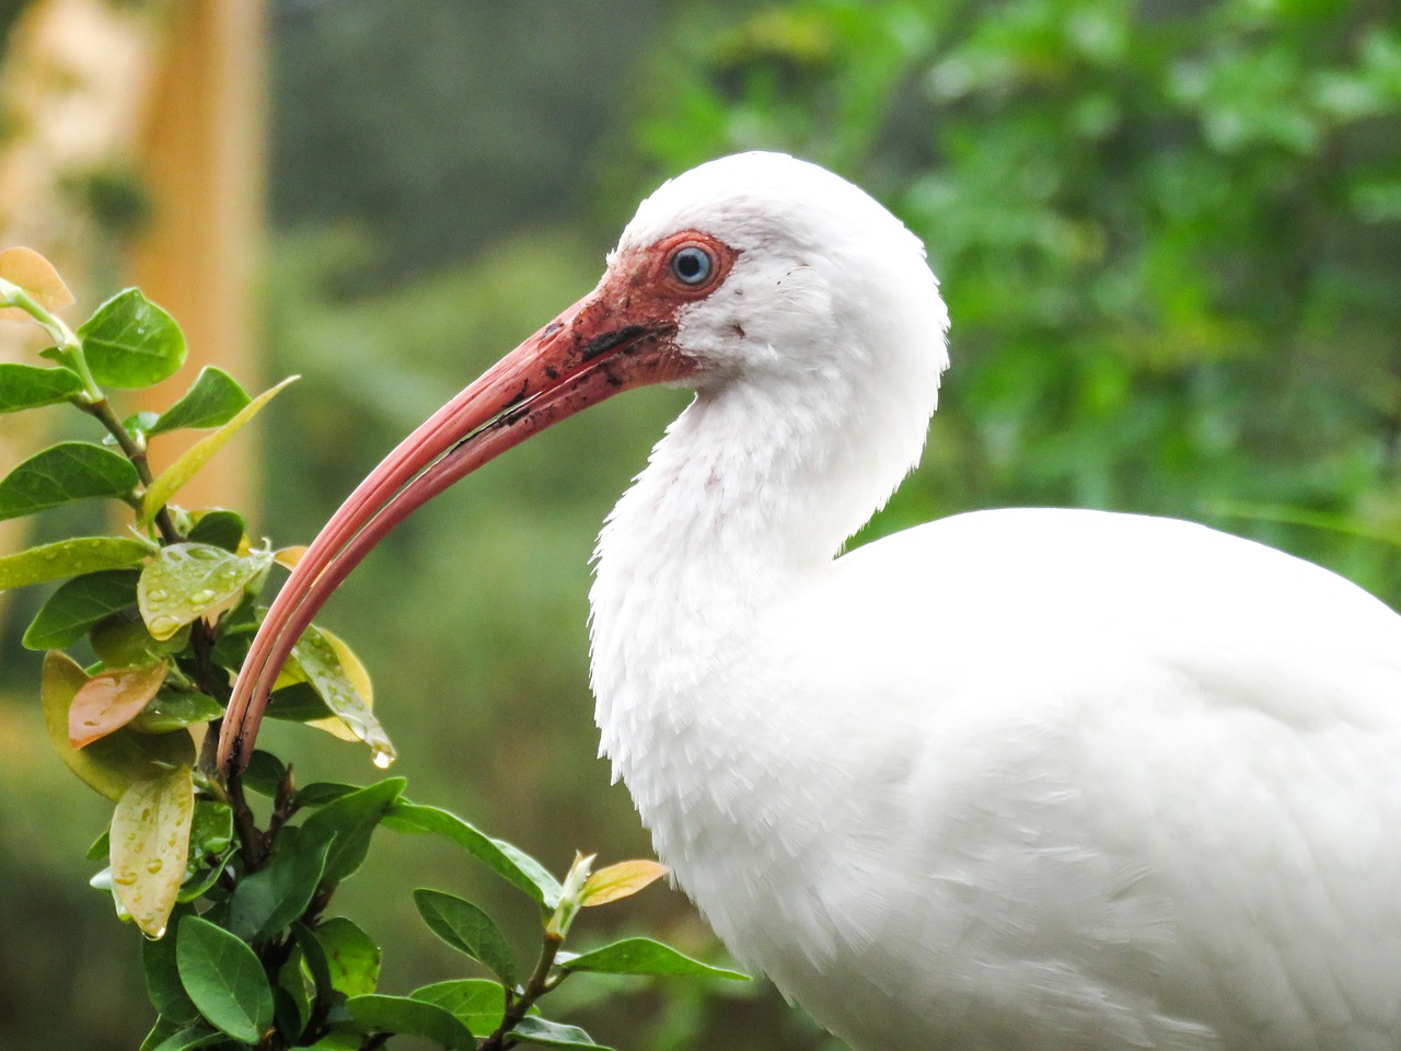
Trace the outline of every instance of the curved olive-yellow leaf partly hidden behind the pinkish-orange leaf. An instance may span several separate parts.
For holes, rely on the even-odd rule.
[[[81,751],[74,748],[69,743],[69,705],[84,682],[87,675],[71,657],[45,656],[39,692],[49,740],[69,769],[90,788],[116,803],[132,782],[195,762],[195,741],[188,733],[150,736],[123,729]]]

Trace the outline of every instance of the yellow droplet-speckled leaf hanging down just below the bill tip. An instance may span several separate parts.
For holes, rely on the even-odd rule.
[[[112,888],[147,937],[161,937],[185,879],[195,786],[188,765],[133,781],[112,814]]]

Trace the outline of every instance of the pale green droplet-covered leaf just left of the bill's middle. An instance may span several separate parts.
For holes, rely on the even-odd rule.
[[[212,544],[172,544],[142,570],[137,605],[154,639],[168,639],[186,624],[242,596],[272,563],[268,552],[244,558]]]

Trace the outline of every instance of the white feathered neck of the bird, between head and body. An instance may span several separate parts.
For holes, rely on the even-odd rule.
[[[765,716],[724,708],[744,703],[730,680],[765,614],[827,572],[918,457],[927,399],[871,436],[878,412],[821,377],[803,391],[702,391],[609,516],[590,596],[593,685],[602,751],[644,818],[649,786],[663,792],[696,750],[765,761],[734,734]]]

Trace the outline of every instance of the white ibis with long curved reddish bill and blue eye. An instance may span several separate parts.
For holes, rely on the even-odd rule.
[[[688,384],[598,540],[602,751],[734,956],[857,1051],[1401,1048],[1401,618],[1184,521],[960,514],[839,555],[947,356],[923,248],[765,153],[403,441],[269,614],[223,741],[402,517]]]

